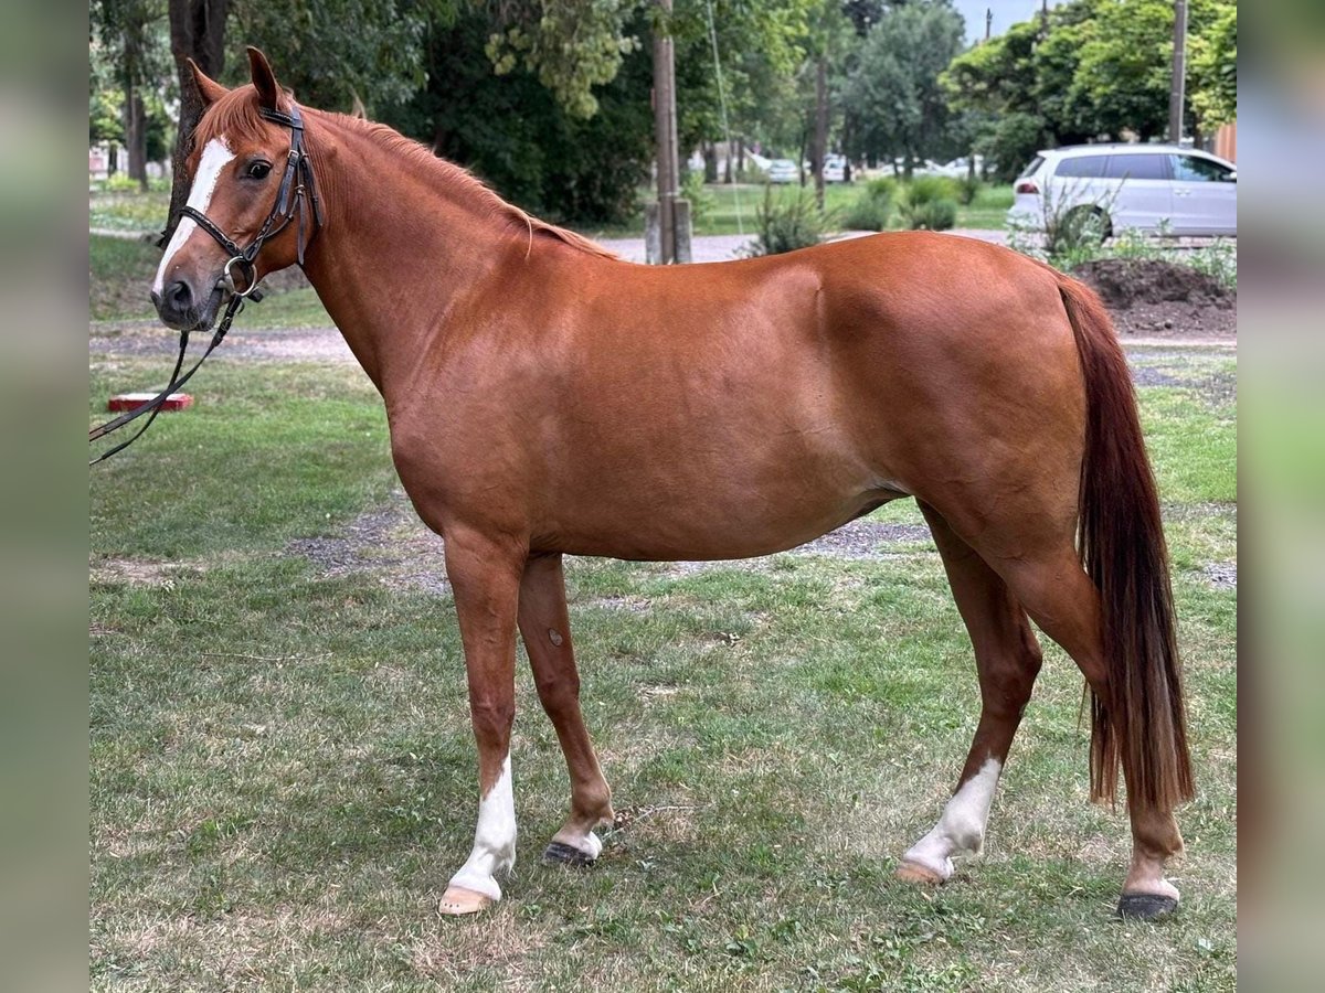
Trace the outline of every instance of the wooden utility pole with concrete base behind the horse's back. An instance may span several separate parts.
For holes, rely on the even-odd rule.
[[[656,0],[669,28],[672,0]],[[676,140],[676,49],[665,29],[653,32],[653,136],[659,199],[645,209],[644,253],[651,263],[690,261],[690,204],[678,197],[681,168]],[[727,150],[727,155],[731,150]]]

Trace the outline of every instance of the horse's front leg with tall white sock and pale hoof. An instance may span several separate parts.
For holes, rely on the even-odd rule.
[[[441,898],[443,914],[474,914],[501,899],[498,875],[515,865],[515,801],[510,728],[515,718],[515,608],[526,551],[511,539],[447,532],[447,576],[469,678],[469,714],[478,744],[478,826],[474,847]]]

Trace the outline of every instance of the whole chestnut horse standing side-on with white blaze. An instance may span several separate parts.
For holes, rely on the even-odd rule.
[[[192,211],[152,297],[167,324],[207,327],[242,291],[237,245],[260,246],[240,266],[250,278],[302,262],[386,401],[400,479],[445,538],[478,745],[474,845],[443,911],[500,899],[515,858],[517,629],[570,771],[547,857],[592,862],[594,828],[612,820],[564,553],[767,555],[904,496],[933,530],[983,708],[951,800],[898,875],[938,883],[980,849],[1040,669],[1034,621],[1089,687],[1092,798],[1114,797],[1120,765],[1126,780],[1120,912],[1177,906],[1163,865],[1192,777],[1167,556],[1126,361],[1089,290],[925,232],[633,265],[387,127],[301,115],[266,58],[249,61],[252,85],[235,90],[195,68]]]

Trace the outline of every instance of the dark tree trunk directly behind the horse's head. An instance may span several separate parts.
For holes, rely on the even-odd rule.
[[[179,131],[172,156],[174,177],[170,191],[170,214],[159,248],[164,248],[179,224],[179,212],[188,200],[188,173],[184,163],[193,144],[193,128],[203,117],[203,97],[193,85],[187,60],[213,79],[225,66],[225,16],[231,0],[170,0],[170,49],[179,74]]]

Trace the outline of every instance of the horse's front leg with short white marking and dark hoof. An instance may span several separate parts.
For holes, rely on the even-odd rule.
[[[579,674],[566,610],[560,555],[534,556],[519,587],[519,633],[534,670],[538,699],[556,728],[571,779],[571,810],[543,853],[550,862],[588,865],[603,842],[594,828],[612,822],[612,790],[603,779],[579,704]]]

